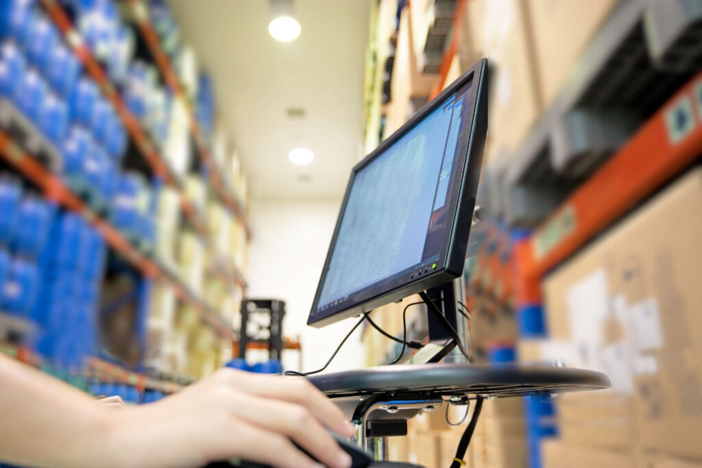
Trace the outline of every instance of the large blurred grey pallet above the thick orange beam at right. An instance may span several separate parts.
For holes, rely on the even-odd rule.
[[[701,54],[684,41],[700,33],[702,13],[685,5],[622,0],[609,15],[554,102],[505,158],[499,214],[510,224],[542,222],[691,77]]]

